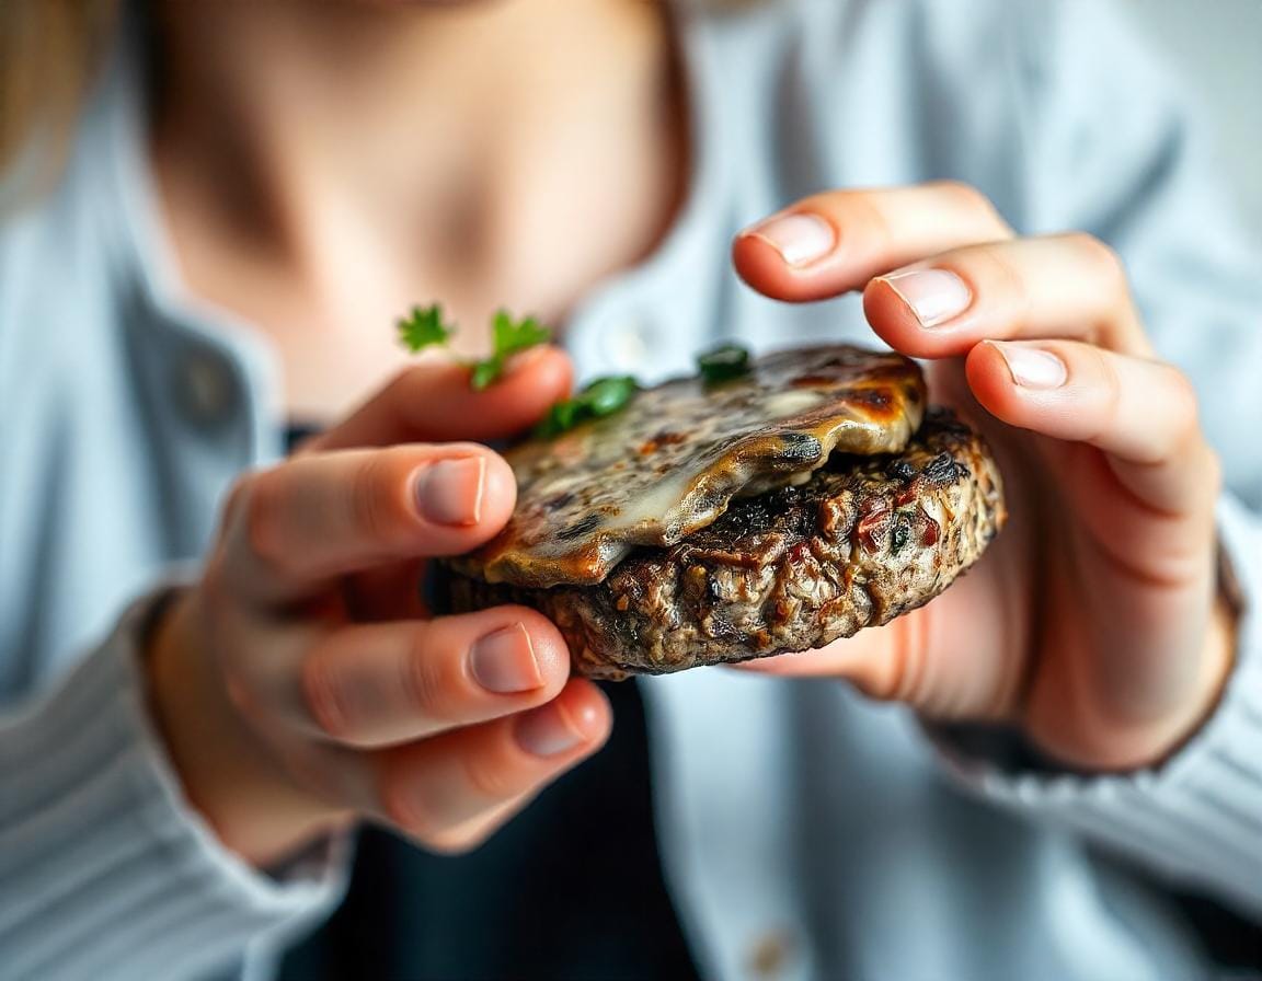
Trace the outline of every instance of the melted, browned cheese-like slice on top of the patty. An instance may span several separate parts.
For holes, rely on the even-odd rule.
[[[512,518],[454,565],[520,586],[599,583],[632,547],[674,545],[733,497],[804,479],[834,448],[901,449],[924,405],[914,362],[844,344],[767,354],[717,386],[665,382],[616,415],[505,454],[517,479]]]

